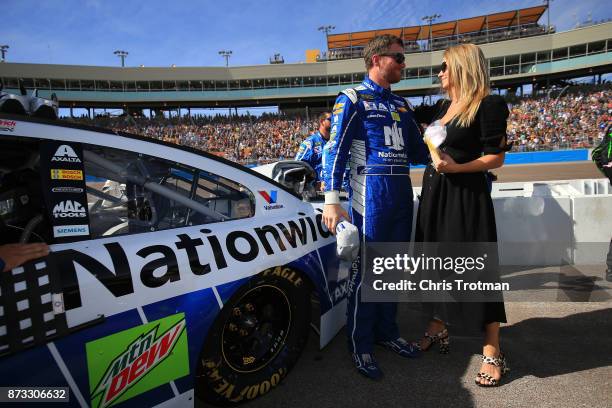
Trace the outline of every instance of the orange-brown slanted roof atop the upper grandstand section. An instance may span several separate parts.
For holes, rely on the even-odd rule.
[[[451,35],[461,35],[497,28],[512,27],[519,24],[536,23],[547,6],[528,7],[513,11],[487,14],[484,16],[464,18],[461,20],[446,21],[431,25],[431,37],[440,38]],[[430,38],[429,25],[413,27],[386,28],[382,30],[357,31],[353,33],[330,34],[327,36],[327,48],[337,49],[345,47],[365,46],[372,38],[392,34],[404,41],[426,40]]]

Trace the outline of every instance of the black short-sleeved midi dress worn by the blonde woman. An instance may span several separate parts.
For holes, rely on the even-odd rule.
[[[419,123],[442,118],[450,101],[416,109]],[[483,154],[510,150],[506,144],[508,107],[497,95],[485,97],[473,123],[446,125],[446,140],[440,150],[457,163],[467,163]],[[440,174],[428,165],[417,213],[415,242],[497,242],[495,213],[484,172]],[[424,310],[448,324],[484,328],[491,322],[506,322],[503,302],[425,303]]]

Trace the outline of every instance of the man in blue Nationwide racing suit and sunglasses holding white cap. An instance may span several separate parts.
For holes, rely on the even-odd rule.
[[[325,206],[323,220],[335,232],[342,218],[351,220],[365,242],[407,242],[412,226],[410,164],[427,163],[428,152],[412,107],[393,94],[404,69],[401,39],[383,35],[364,51],[367,77],[342,91],[333,108],[330,141],[324,150]],[[349,159],[350,153],[350,159]],[[340,206],[339,190],[350,160],[351,215]],[[400,337],[396,303],[361,301],[361,274],[353,267],[347,310],[348,346],[358,371],[378,379],[382,372],[372,355],[374,343],[404,357],[416,347]]]

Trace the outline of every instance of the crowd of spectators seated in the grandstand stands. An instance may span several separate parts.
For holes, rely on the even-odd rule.
[[[508,138],[514,151],[591,147],[603,137],[612,114],[608,86],[561,89],[511,103]],[[91,123],[87,118],[79,121]],[[206,150],[240,163],[291,159],[314,131],[304,117],[244,116],[97,117],[96,125]],[[312,122],[312,123],[311,123]]]

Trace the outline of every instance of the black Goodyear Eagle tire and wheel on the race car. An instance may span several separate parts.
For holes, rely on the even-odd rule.
[[[197,397],[231,406],[276,387],[306,345],[310,289],[299,272],[280,266],[241,287],[224,305],[204,342]]]

